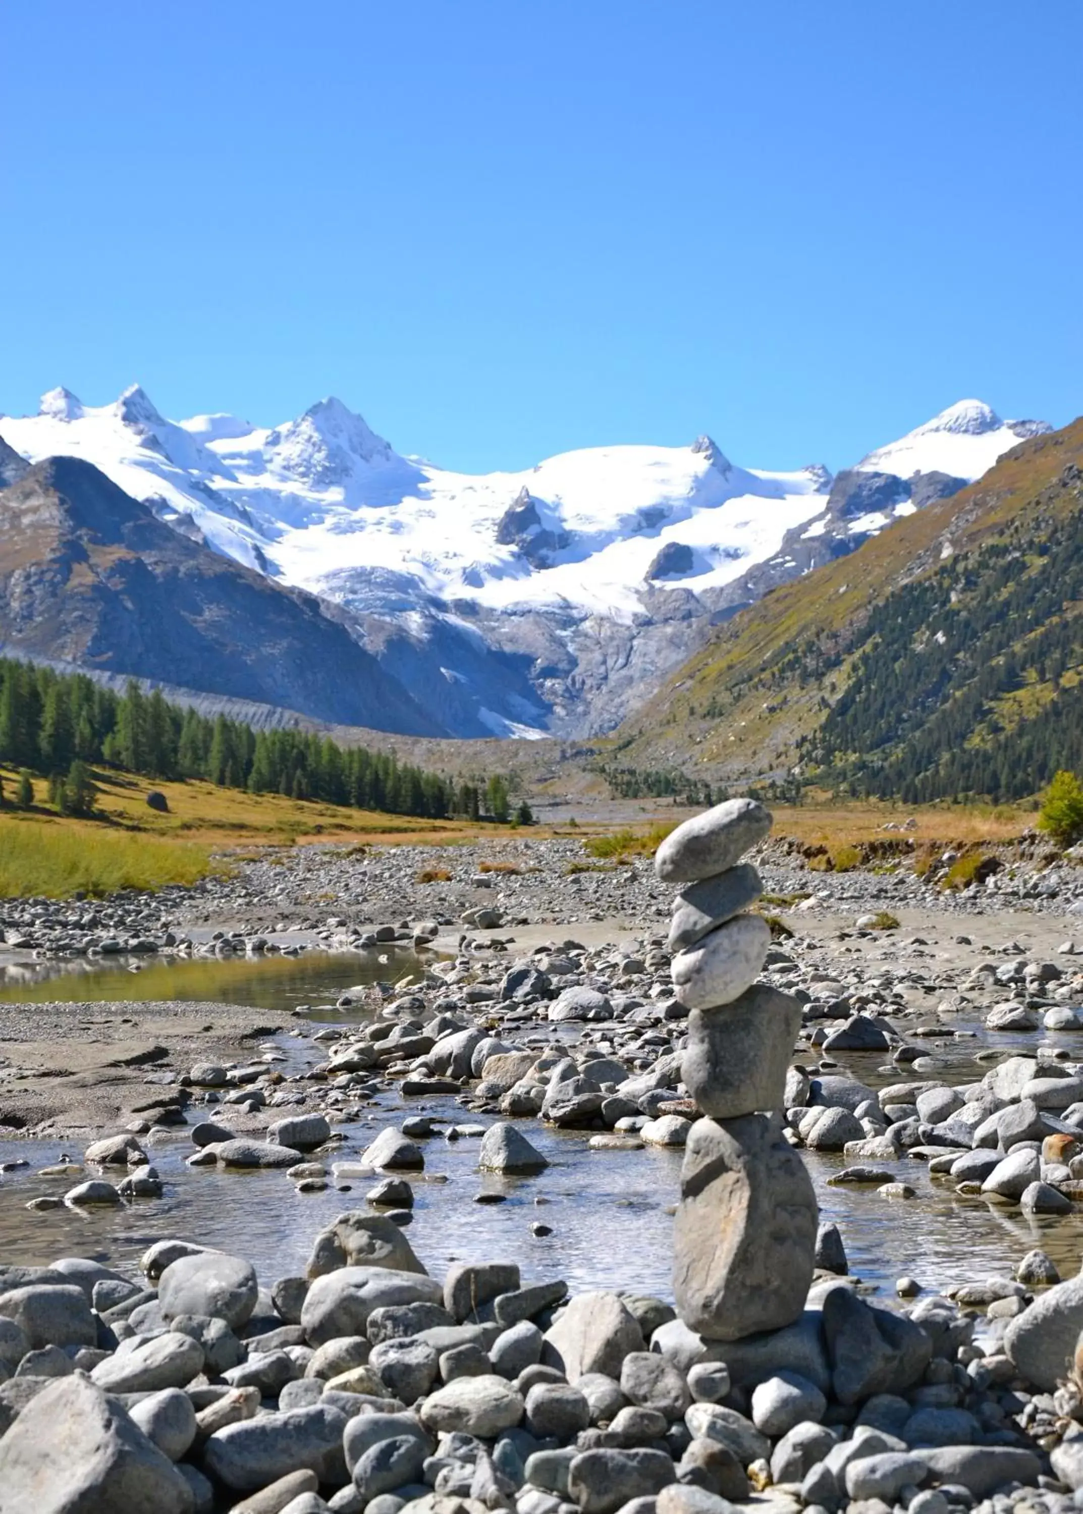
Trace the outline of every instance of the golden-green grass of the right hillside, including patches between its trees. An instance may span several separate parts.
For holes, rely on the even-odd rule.
[[[882,646],[885,639],[885,604],[891,603],[889,615],[909,618],[913,622],[909,630],[919,633],[918,601],[925,592],[921,586],[933,586],[927,609],[932,612],[936,607],[938,613],[944,613],[945,606],[951,612],[951,595],[962,586],[974,595],[975,607],[980,601],[988,656],[1004,657],[1013,650],[1021,651],[1019,668],[1028,668],[1032,654],[1025,643],[1041,627],[1035,616],[1025,613],[1028,590],[1012,598],[1012,586],[1024,574],[1038,583],[1039,559],[1051,551],[1060,553],[1056,559],[1059,565],[1074,560],[1075,527],[1071,522],[1077,521],[1083,506],[1081,466],[1083,419],[1062,431],[1022,442],[960,494],[895,522],[850,557],[772,590],[718,628],[710,643],[607,743],[604,763],[610,769],[669,769],[698,781],[736,783],[785,777],[804,757],[806,763],[813,759],[829,762],[832,780],[839,769],[854,777],[860,766],[856,759],[866,755],[854,751],[854,743],[869,739],[868,722],[859,712],[847,736],[838,727],[839,715],[833,737],[826,722],[851,686],[856,690],[856,680],[862,684],[860,698],[866,704],[877,704],[879,690],[880,704],[888,698],[900,715],[921,689],[924,695],[932,692],[935,707],[924,709],[929,718],[948,692],[954,693],[975,674],[972,666],[960,668],[959,657],[945,654],[941,684],[930,690],[927,681],[922,683],[924,672],[921,677],[916,672],[924,646],[919,634],[916,639],[912,636],[907,645],[895,637],[879,662],[872,660],[871,650]],[[1057,531],[1063,539],[1054,544]],[[1001,584],[997,592],[1007,595],[1000,607],[991,598],[991,575]],[[1004,634],[995,630],[998,612],[1000,622],[1007,628]],[[1047,595],[1038,615],[1045,625],[1074,612]],[[968,628],[959,616],[953,634],[954,653],[965,651]],[[1060,678],[1063,683],[1066,675],[1071,684],[1071,637],[1053,639],[1063,643]],[[888,666],[895,669],[891,693],[883,683]],[[1036,666],[1036,671],[1041,668]],[[1030,675],[994,681],[997,689],[989,698],[1003,701],[1003,710],[992,712],[1001,724],[1019,725],[1048,702],[1039,680]],[[853,710],[859,702],[856,690],[845,707]],[[978,704],[971,710],[975,728],[991,713]],[[826,728],[822,742],[821,727]],[[968,730],[966,739],[969,734]],[[933,745],[948,739],[957,742],[957,724],[953,727],[948,722],[939,733],[930,727],[927,736]],[[886,734],[875,766],[886,766],[901,739],[901,728]],[[929,751],[924,760],[929,766]],[[912,778],[916,762],[915,757],[910,765]],[[866,789],[898,792],[903,777],[901,769],[892,769],[879,787],[866,784]],[[916,796],[935,798],[936,792],[956,792],[956,787],[950,784],[936,790],[933,784],[916,790]]]

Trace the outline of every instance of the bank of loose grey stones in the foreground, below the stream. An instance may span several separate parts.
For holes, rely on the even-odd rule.
[[[176,1238],[0,1266],[0,1514],[1072,1514],[1081,1301],[986,1350],[972,1304],[830,1279],[712,1343],[510,1263],[441,1282],[359,1210],[271,1287]]]

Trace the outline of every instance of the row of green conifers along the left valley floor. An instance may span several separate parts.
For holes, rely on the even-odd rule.
[[[256,731],[171,704],[158,689],[145,693],[135,681],[121,695],[85,674],[9,659],[0,660],[0,762],[41,772],[53,787],[73,766],[79,775],[97,763],[147,778],[204,778],[391,815],[509,818],[507,786],[498,777],[456,784],[394,754],[339,746],[301,730]]]

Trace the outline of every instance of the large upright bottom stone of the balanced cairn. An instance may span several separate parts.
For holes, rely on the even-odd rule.
[[[674,1223],[680,1317],[707,1340],[792,1325],[816,1246],[816,1196],[777,1114],[697,1120]]]

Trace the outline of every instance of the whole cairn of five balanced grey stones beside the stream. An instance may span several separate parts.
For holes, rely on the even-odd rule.
[[[669,946],[688,1008],[682,1078],[703,1116],[680,1176],[674,1294],[707,1340],[792,1325],[804,1310],[816,1245],[816,1199],[780,1110],[801,1005],[756,978],[771,928],[748,913],[762,892],[744,854],[771,830],[754,799],[729,799],[679,825],[654,857],[680,884]]]

